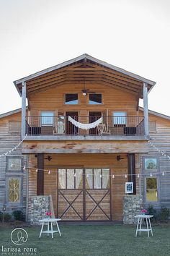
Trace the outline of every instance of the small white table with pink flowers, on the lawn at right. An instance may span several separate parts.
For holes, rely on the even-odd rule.
[[[139,214],[139,215],[135,216],[135,218],[138,218],[136,231],[135,231],[135,236],[137,236],[138,231],[139,231],[139,235],[140,235],[141,231],[148,232],[148,237],[149,237],[149,231],[151,231],[151,235],[153,236],[151,220],[150,220],[150,218],[152,218],[152,217],[153,217],[153,215],[144,215],[144,214]],[[145,220],[146,220],[146,229],[143,229],[142,228],[142,223],[144,223]]]

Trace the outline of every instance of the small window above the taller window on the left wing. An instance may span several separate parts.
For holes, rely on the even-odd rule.
[[[6,171],[22,171],[22,158],[18,156],[6,157]]]

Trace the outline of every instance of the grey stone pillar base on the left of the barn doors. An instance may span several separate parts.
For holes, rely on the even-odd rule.
[[[50,197],[46,195],[35,195],[31,197],[30,223],[40,224],[39,220],[47,218],[46,213],[50,211]]]

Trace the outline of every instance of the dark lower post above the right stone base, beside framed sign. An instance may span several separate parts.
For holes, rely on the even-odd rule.
[[[135,154],[128,153],[128,182],[133,182],[133,194],[136,194],[135,184]]]

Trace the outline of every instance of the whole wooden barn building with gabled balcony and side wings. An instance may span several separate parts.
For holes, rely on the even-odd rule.
[[[130,223],[142,206],[170,208],[170,117],[148,110],[155,84],[88,54],[14,81],[22,108],[0,115],[0,210]]]

